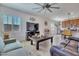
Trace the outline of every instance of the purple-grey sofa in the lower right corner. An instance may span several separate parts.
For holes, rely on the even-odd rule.
[[[73,43],[75,41],[72,41]],[[68,43],[68,39],[63,39],[58,45],[53,45],[50,48],[50,54],[51,56],[79,56],[79,43],[78,46],[76,47],[76,50],[72,44],[69,44],[68,46],[65,47],[65,45]]]

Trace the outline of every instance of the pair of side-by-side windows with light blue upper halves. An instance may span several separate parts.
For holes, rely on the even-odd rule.
[[[18,31],[21,24],[21,18],[18,16],[3,15],[4,31]]]

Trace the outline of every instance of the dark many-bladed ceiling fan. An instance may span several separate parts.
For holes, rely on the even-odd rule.
[[[57,4],[57,3],[43,3],[43,4],[40,4],[40,3],[34,3],[40,7],[37,7],[37,8],[33,8],[34,10],[35,9],[40,9],[40,12],[44,9],[47,9],[49,12],[53,12],[52,9],[60,9],[60,7],[54,7],[53,5]]]

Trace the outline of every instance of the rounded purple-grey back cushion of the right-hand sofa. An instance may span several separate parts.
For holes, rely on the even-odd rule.
[[[70,53],[66,49],[59,46],[52,46],[50,53],[52,56],[78,56],[78,54]]]

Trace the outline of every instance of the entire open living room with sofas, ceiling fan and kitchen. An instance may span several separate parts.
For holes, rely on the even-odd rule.
[[[78,6],[0,3],[0,55],[78,56]]]

